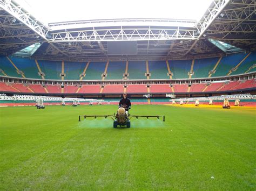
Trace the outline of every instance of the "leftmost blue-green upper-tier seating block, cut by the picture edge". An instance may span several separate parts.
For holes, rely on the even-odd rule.
[[[6,58],[6,56],[0,56],[0,69],[4,73],[11,77],[22,77],[21,74],[18,74],[16,68],[11,64],[11,62]],[[3,75],[0,71],[0,75]]]

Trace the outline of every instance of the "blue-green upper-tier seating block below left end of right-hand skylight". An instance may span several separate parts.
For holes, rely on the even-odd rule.
[[[214,68],[219,58],[206,58],[194,60],[192,78],[208,77],[209,72]]]

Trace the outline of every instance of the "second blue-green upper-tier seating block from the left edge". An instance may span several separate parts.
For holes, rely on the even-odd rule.
[[[26,58],[10,58],[12,62],[14,62],[15,66],[19,70],[21,70],[26,78],[31,79],[42,79],[41,76],[38,75],[38,69],[36,66],[35,60],[26,59]]]

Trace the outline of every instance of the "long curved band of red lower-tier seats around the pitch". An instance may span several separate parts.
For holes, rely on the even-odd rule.
[[[256,82],[254,79],[246,81],[232,81],[232,82],[217,82],[217,83],[198,83],[192,84],[188,87],[188,84],[151,84],[148,89],[146,84],[128,84],[126,87],[126,93],[128,94],[168,94],[168,93],[200,93],[200,92],[214,92],[214,91],[233,91],[242,90],[248,88],[256,88]],[[59,84],[50,85],[46,88],[42,84],[22,84],[22,83],[5,83],[0,82],[0,93],[11,92],[11,93],[48,93],[50,94],[123,94],[124,86],[122,84],[111,84],[105,85],[102,88],[99,84],[97,85],[83,85],[78,86],[64,86],[64,91]],[[102,90],[102,91],[101,91]],[[148,92],[149,90],[149,92]],[[174,92],[173,92],[174,90]]]

